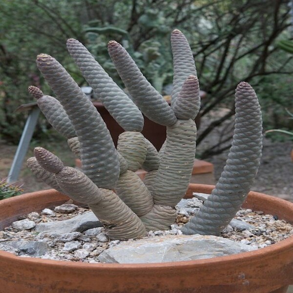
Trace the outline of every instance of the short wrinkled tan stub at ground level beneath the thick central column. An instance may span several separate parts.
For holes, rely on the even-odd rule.
[[[146,230],[168,230],[175,222],[177,211],[173,207],[154,205],[149,213],[140,219],[146,226]]]

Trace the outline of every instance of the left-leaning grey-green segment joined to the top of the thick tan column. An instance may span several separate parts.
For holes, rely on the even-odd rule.
[[[108,52],[132,99],[146,117],[160,125],[173,125],[177,118],[171,107],[146,80],[126,49],[110,41]]]

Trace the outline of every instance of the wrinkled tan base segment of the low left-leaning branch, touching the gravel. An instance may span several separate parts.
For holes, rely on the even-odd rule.
[[[146,236],[146,228],[140,218],[110,189],[100,188],[102,198],[89,207],[107,229],[110,239],[127,240]]]

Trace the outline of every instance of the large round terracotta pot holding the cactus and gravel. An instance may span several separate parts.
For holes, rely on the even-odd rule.
[[[212,188],[191,184],[187,197]],[[0,227],[67,199],[51,189],[2,200]],[[244,206],[293,223],[293,203],[285,200],[251,192]],[[293,284],[293,236],[257,251],[160,264],[87,264],[0,251],[1,293],[285,293],[288,284]]]

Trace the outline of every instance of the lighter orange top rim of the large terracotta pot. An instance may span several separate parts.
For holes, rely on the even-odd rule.
[[[214,186],[212,185],[203,185],[203,184],[190,184],[189,188],[192,189],[210,189],[212,190]],[[55,191],[54,189],[47,189],[47,190],[42,190],[43,196],[45,196],[46,192],[52,192]],[[56,191],[58,193],[58,191]],[[26,197],[31,197],[36,194],[39,194],[40,191],[35,191],[31,193],[26,193],[23,195],[19,195],[17,197],[12,197],[8,199],[1,200],[1,204],[5,204],[10,201],[21,201],[21,198],[23,196]],[[270,200],[270,201],[276,201],[278,202],[281,206],[287,206],[287,209],[292,209],[293,212],[293,203],[280,199],[280,198],[275,198],[271,195],[267,195],[264,193],[256,192],[256,191],[251,191],[249,193],[250,197],[257,196],[263,200]],[[14,203],[15,204],[15,203]],[[289,207],[288,207],[289,206]],[[151,269],[159,269],[159,268],[172,268],[174,266],[179,267],[179,268],[187,268],[188,267],[194,267],[194,266],[207,266],[207,265],[216,265],[218,263],[231,263],[235,261],[245,260],[249,261],[249,259],[252,259],[254,257],[265,257],[272,252],[277,253],[277,254],[282,254],[284,251],[288,250],[293,250],[293,235],[288,237],[287,239],[284,239],[278,243],[272,244],[270,246],[267,246],[265,248],[257,249],[254,251],[247,251],[247,252],[241,252],[241,253],[236,253],[236,254],[231,254],[227,256],[218,256],[218,257],[212,257],[212,258],[206,258],[206,259],[198,259],[198,260],[188,260],[188,261],[178,261],[178,262],[164,262],[164,263],[137,263],[137,264],[117,264],[117,263],[79,263],[79,262],[67,262],[67,261],[62,261],[62,260],[51,260],[51,259],[42,259],[42,258],[37,258],[37,257],[21,257],[14,255],[11,252],[7,251],[0,251],[0,258],[4,259],[11,259],[11,260],[21,260],[24,263],[27,264],[42,264],[42,265],[47,265],[47,266],[65,266],[69,268],[83,268],[84,269],[89,269],[89,270],[105,270],[105,269],[111,269],[111,270],[120,270],[120,269],[145,269],[145,270],[151,270]],[[239,257],[241,255],[241,257]]]

